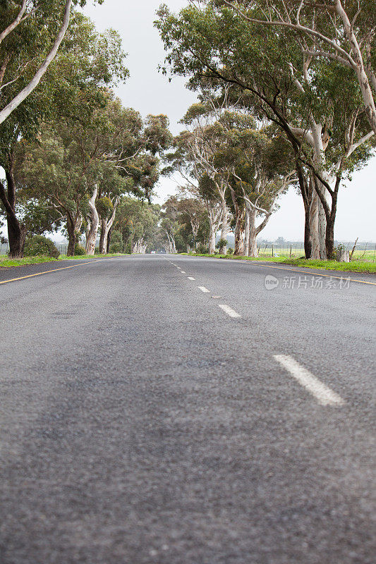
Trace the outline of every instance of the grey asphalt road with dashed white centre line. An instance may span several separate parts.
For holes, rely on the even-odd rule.
[[[0,272],[1,564],[375,562],[375,276],[63,266]]]

